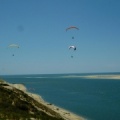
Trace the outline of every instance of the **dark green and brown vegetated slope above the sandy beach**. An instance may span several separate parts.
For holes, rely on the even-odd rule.
[[[0,120],[64,120],[21,90],[0,82]]]

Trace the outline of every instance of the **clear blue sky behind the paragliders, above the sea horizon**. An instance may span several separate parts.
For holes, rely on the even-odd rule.
[[[120,72],[119,0],[0,0],[0,75],[96,72]]]

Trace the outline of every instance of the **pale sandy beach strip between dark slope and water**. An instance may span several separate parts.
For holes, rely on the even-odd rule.
[[[53,111],[57,112],[65,120],[86,120],[84,117],[78,116],[78,115],[74,114],[73,112],[70,112],[69,110],[66,110],[64,108],[58,107],[54,104],[51,104],[47,101],[44,101],[42,99],[42,97],[38,94],[28,92],[27,88],[23,84],[10,84],[10,83],[8,83],[8,84],[11,87],[15,87],[15,88],[25,92],[26,94],[28,94],[30,97],[32,97],[37,102],[40,102],[41,104],[45,105],[46,107],[48,107],[48,108],[52,109]],[[10,89],[10,87],[9,87],[9,89]]]

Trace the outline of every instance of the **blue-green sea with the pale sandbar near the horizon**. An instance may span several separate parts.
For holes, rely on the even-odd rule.
[[[120,120],[120,73],[1,75],[87,120]],[[97,76],[97,77],[96,77]],[[102,77],[101,77],[102,76]]]

